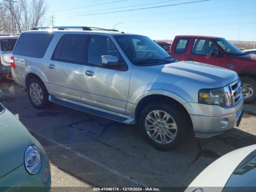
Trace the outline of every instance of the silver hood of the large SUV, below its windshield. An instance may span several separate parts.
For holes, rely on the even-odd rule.
[[[195,82],[199,88],[223,87],[238,79],[238,74],[232,70],[192,61],[166,64],[161,70],[172,76],[187,79],[187,83]]]

